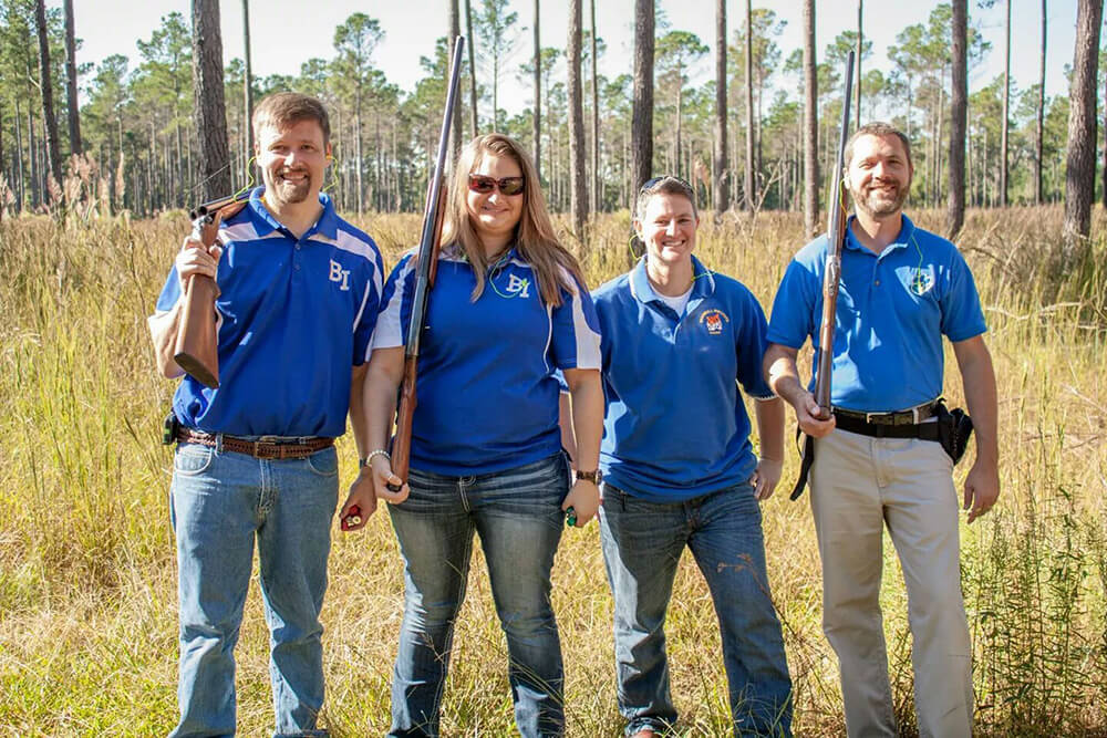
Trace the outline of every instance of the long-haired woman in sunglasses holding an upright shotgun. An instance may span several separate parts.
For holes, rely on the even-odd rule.
[[[420,364],[408,484],[387,448],[414,292],[413,254],[389,278],[365,381],[373,450],[342,517],[390,505],[405,563],[405,610],[390,736],[437,736],[454,620],[473,534],[480,538],[507,636],[515,720],[526,737],[565,731],[563,672],[550,570],[570,507],[599,507],[600,335],[577,260],[558,242],[529,156],[489,134],[462,152]],[[560,370],[571,395],[576,482],[561,450]],[[410,489],[408,489],[410,487]],[[362,522],[361,524],[364,524]],[[360,527],[360,526],[358,526]]]

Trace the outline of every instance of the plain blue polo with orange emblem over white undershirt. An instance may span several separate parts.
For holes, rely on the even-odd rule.
[[[741,282],[692,259],[683,315],[650,287],[645,260],[596,290],[607,413],[600,467],[608,481],[654,502],[742,484],[757,467],[738,384],[762,375],[765,313]]]

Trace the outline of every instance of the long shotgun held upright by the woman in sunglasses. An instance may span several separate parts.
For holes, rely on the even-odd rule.
[[[442,132],[438,135],[438,156],[434,164],[434,176],[427,181],[426,209],[423,211],[423,235],[415,253],[415,294],[412,298],[412,318],[404,341],[404,378],[400,391],[400,407],[396,410],[396,435],[392,439],[392,472],[402,481],[407,481],[411,461],[412,420],[415,417],[415,378],[418,367],[420,340],[426,322],[427,298],[434,287],[434,274],[438,267],[438,247],[442,238],[442,218],[446,211],[446,153],[449,147],[449,128],[454,119],[454,101],[462,70],[462,50],[465,37],[454,42],[454,55],[449,65],[449,84],[446,87],[446,110],[442,115]],[[389,485],[394,492],[399,486]]]

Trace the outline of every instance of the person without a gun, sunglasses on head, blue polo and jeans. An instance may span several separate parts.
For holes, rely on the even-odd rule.
[[[780,478],[784,406],[762,377],[761,305],[692,256],[697,226],[685,181],[648,181],[634,217],[645,258],[593,293],[607,399],[600,536],[619,710],[635,738],[676,721],[664,621],[687,547],[718,615],[735,734],[790,735],[792,680],[758,506]],[[738,384],[757,399],[761,458]]]

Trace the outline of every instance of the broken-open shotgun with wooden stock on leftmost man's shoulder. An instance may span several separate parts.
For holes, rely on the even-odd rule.
[[[205,249],[215,243],[221,220],[238,214],[246,202],[226,198],[206,202],[193,211],[193,226]],[[184,298],[173,361],[194,380],[215,389],[219,386],[219,336],[215,321],[219,287],[204,274],[193,276],[180,287]]]

